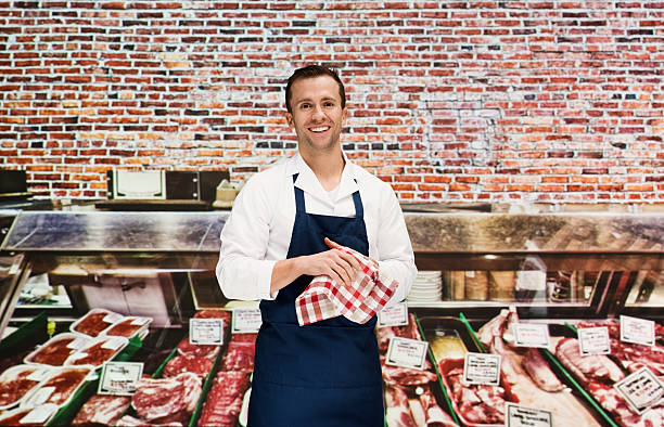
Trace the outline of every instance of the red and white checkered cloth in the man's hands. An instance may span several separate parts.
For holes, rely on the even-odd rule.
[[[350,285],[336,283],[327,275],[314,277],[309,286],[295,299],[297,322],[301,326],[343,315],[356,322],[367,323],[379,312],[397,286],[396,281],[380,274],[371,260],[347,247],[337,248],[353,255],[360,263],[357,279]]]

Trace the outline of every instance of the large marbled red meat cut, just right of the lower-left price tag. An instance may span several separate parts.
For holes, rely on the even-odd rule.
[[[199,376],[187,372],[170,378],[143,378],[131,397],[131,407],[149,423],[187,424],[201,392]]]

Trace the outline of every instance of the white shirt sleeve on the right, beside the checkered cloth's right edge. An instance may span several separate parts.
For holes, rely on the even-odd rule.
[[[379,269],[399,284],[385,306],[390,307],[406,299],[418,269],[404,212],[394,191],[387,187],[382,199],[376,244]]]

